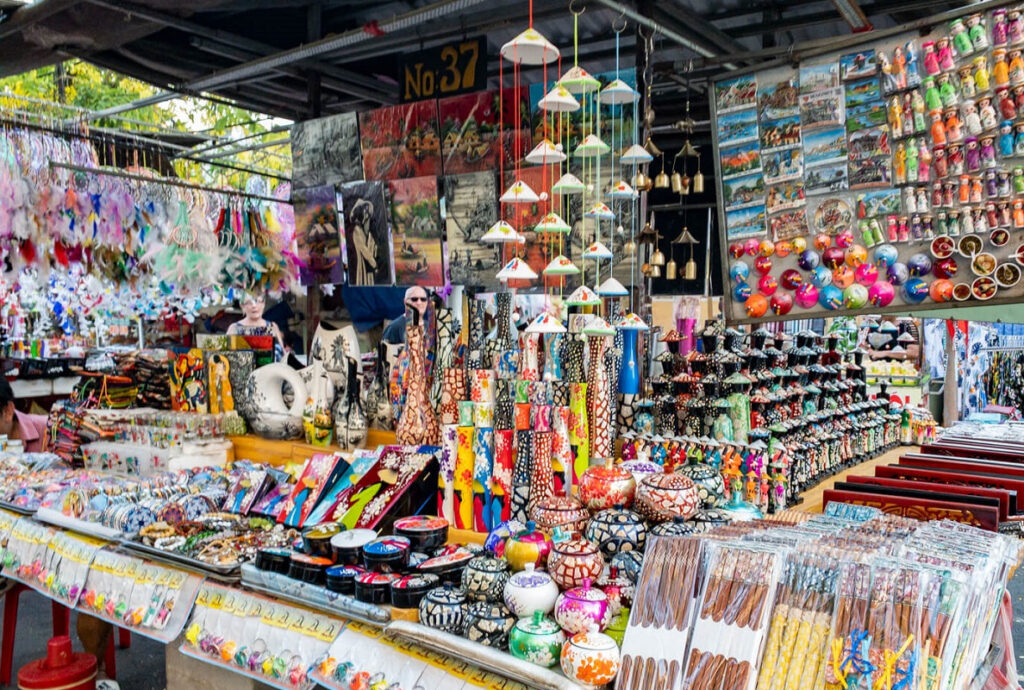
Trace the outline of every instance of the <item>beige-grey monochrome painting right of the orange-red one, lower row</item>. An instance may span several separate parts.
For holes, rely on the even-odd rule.
[[[452,283],[497,286],[501,248],[482,245],[480,238],[498,221],[498,176],[494,172],[446,175],[442,184]]]

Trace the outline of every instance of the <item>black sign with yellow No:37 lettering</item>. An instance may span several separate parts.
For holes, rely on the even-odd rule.
[[[479,91],[487,83],[486,39],[481,36],[402,55],[398,81],[402,102]]]

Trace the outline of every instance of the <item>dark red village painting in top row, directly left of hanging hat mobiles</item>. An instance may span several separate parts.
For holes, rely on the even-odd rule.
[[[438,101],[442,168],[445,175],[483,172],[513,165],[531,147],[529,102],[525,91],[518,107],[513,89],[481,91]],[[515,122],[520,122],[518,137]],[[504,146],[499,140],[504,126]],[[516,143],[518,142],[518,148]]]

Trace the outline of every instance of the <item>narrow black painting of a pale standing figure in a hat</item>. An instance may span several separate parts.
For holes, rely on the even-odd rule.
[[[341,213],[348,249],[348,284],[391,285],[394,269],[384,183],[374,180],[341,185]]]

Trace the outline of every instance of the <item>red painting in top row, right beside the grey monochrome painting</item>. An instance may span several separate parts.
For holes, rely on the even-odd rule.
[[[436,100],[360,113],[359,132],[366,179],[393,180],[441,173]]]

